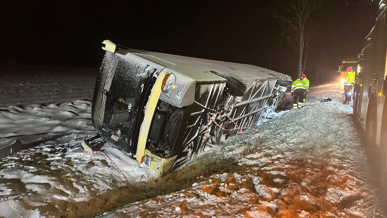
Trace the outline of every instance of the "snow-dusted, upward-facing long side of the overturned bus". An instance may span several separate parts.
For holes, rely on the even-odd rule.
[[[237,64],[134,49],[129,49],[127,51],[185,74],[198,82],[224,81],[224,79],[210,73],[210,71],[227,73],[241,81],[277,79],[280,75],[283,75],[285,79],[291,80],[290,77],[285,74],[249,64]]]

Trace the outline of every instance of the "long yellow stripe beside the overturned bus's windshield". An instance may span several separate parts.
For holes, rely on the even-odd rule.
[[[148,106],[145,110],[144,120],[140,127],[139,142],[137,143],[136,160],[141,162],[142,156],[145,154],[145,146],[148,139],[149,128],[151,128],[151,122],[156,109],[157,102],[161,94],[161,84],[163,83],[165,73],[161,71],[157,77],[156,83],[153,86],[151,96],[149,97]]]

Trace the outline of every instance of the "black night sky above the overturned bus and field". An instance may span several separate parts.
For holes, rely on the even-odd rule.
[[[2,2],[1,65],[97,68],[101,42],[110,39],[129,48],[265,68],[270,55],[271,69],[297,74],[298,53],[269,16],[273,0],[61,2]],[[378,0],[323,0],[307,76],[330,78],[341,60],[356,58],[377,9]]]

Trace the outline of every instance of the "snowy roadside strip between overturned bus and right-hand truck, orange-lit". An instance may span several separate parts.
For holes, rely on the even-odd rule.
[[[302,110],[268,121],[260,126],[263,132],[247,131],[264,142],[257,153],[182,191],[103,217],[384,217],[342,93],[340,84],[312,89]],[[319,102],[327,97],[332,101]],[[254,146],[242,135],[225,143],[229,146],[215,152],[223,158],[245,149],[241,144]]]

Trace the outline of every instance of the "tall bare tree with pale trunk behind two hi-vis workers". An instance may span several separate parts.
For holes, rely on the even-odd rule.
[[[322,0],[278,0],[280,10],[272,12],[272,16],[281,24],[282,34],[300,56],[298,78],[305,70],[307,52],[313,41],[312,16],[320,8],[321,2]]]

